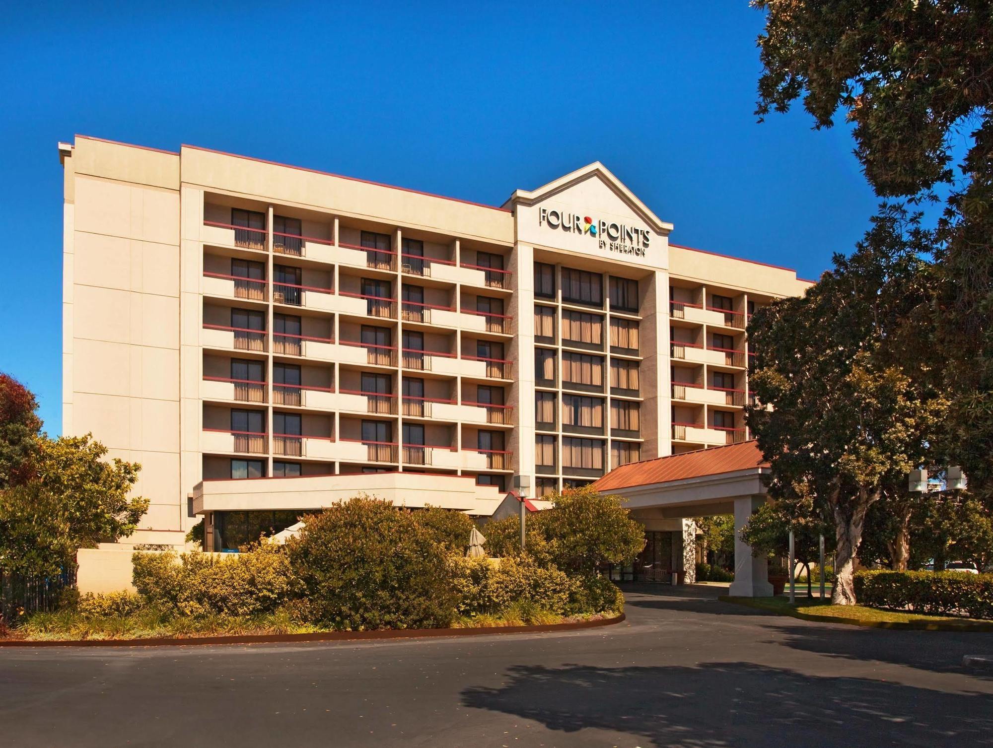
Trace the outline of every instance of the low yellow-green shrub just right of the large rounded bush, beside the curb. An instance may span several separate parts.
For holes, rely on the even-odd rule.
[[[455,588],[462,615],[499,615],[518,603],[562,615],[569,610],[575,583],[554,566],[525,555],[501,559],[454,558]]]

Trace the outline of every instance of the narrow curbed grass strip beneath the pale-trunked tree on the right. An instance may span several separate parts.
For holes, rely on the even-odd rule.
[[[771,613],[788,615],[807,620],[834,621],[861,626],[879,628],[917,628],[917,629],[949,629],[949,630],[990,630],[993,631],[993,621],[983,621],[975,618],[960,618],[956,616],[925,615],[900,610],[883,610],[870,608],[865,605],[832,605],[830,601],[797,600],[795,605],[789,604],[789,598],[777,597],[727,597],[722,600],[746,605],[751,608],[768,610]]]

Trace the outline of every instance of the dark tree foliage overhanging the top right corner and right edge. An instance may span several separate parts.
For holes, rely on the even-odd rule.
[[[885,196],[936,200],[922,305],[934,335],[914,352],[949,393],[935,435],[993,502],[993,45],[985,0],[753,0],[766,11],[757,113],[802,97],[815,127],[839,111],[855,155]],[[964,135],[964,137],[963,137]],[[964,143],[956,165],[954,149]],[[922,315],[918,316],[920,321]],[[914,324],[914,327],[917,325]],[[911,337],[915,336],[912,330]]]

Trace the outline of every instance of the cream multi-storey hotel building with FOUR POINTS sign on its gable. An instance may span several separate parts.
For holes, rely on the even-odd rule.
[[[510,489],[745,440],[749,314],[808,285],[670,243],[599,163],[494,206],[59,148],[63,430],[141,463],[134,543],[206,517],[232,548],[358,493],[492,516]]]

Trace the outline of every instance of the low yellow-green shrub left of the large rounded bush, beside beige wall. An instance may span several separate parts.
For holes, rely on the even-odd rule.
[[[132,561],[138,593],[185,616],[270,613],[298,588],[287,555],[271,544],[221,556],[136,552]]]

